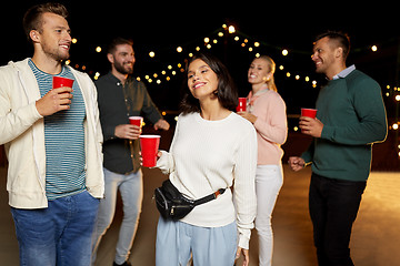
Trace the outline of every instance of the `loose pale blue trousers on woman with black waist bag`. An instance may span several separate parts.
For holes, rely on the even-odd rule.
[[[237,252],[237,223],[221,227],[200,227],[166,221],[157,226],[156,266],[232,266]]]

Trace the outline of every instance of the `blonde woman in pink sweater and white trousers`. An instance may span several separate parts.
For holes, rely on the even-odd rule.
[[[273,235],[271,215],[283,184],[281,145],[288,135],[286,104],[277,92],[273,80],[276,64],[267,55],[250,64],[248,81],[251,84],[247,112],[239,112],[257,130],[258,166],[256,175],[257,217],[259,235],[259,265],[272,264]]]

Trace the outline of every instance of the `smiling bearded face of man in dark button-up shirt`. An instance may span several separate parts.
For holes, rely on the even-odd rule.
[[[116,47],[116,51],[108,54],[108,59],[113,68],[121,74],[133,73],[133,64],[136,62],[132,45],[120,44]]]

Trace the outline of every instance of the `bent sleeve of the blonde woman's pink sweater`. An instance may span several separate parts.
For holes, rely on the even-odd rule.
[[[258,116],[254,127],[264,140],[282,145],[288,135],[286,104],[278,94],[266,99],[268,102],[262,105],[268,108],[266,113],[268,117]]]

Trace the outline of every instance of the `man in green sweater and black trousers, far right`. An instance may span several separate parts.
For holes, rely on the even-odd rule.
[[[370,173],[372,144],[386,140],[388,125],[379,84],[346,66],[349,38],[326,32],[314,42],[312,61],[327,76],[317,100],[317,119],[300,117],[301,131],[313,136],[293,171],[311,164],[310,216],[320,266],[350,266],[351,227]]]

